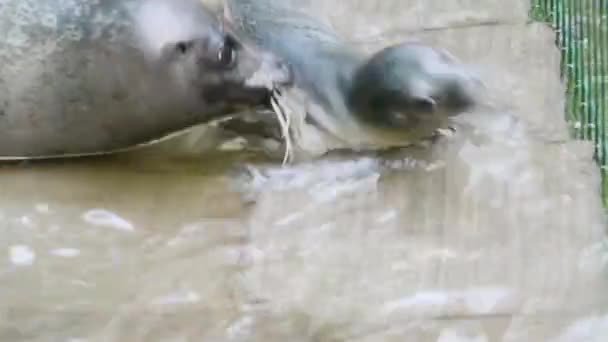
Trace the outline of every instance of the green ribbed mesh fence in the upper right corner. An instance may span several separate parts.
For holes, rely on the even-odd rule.
[[[532,18],[557,32],[567,120],[576,138],[595,142],[608,205],[608,0],[532,0]]]

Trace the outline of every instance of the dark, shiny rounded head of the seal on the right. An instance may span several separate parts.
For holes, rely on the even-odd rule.
[[[446,51],[401,43],[359,66],[345,94],[352,113],[367,125],[383,130],[418,127],[431,134],[442,119],[475,106],[476,85],[479,81]]]

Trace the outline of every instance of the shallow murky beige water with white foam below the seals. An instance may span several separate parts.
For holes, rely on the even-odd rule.
[[[588,146],[504,120],[286,168],[154,149],[6,165],[0,340],[606,336]]]

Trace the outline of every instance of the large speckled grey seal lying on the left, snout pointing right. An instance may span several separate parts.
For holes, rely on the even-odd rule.
[[[289,82],[199,0],[0,3],[0,158],[109,153],[267,102]]]

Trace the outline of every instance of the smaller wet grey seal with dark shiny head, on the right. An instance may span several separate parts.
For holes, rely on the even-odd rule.
[[[334,147],[408,145],[478,103],[483,85],[447,51],[404,42],[363,53],[300,7],[294,1],[226,0],[224,8],[239,36],[293,70],[293,86],[276,96],[292,150],[319,155]]]

